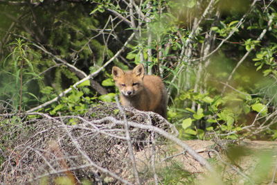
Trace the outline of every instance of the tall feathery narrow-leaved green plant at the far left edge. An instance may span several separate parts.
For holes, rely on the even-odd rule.
[[[30,44],[24,39],[16,39],[9,45],[12,52],[0,62],[0,99],[11,99],[12,108],[20,111],[37,100],[35,92],[29,88],[42,78],[34,67],[37,55],[30,49]]]

